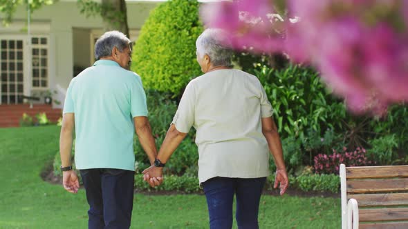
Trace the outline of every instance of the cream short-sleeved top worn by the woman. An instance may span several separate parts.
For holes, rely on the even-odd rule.
[[[241,70],[207,72],[189,82],[172,123],[196,128],[198,179],[267,177],[269,148],[261,117],[272,106],[257,77]]]

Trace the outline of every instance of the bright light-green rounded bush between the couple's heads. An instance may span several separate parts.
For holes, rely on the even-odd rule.
[[[131,68],[140,74],[145,88],[178,96],[200,75],[195,42],[201,32],[197,1],[167,1],[152,10],[132,55]]]

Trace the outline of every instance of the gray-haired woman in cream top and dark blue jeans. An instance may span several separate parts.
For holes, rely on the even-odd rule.
[[[232,202],[237,196],[239,228],[258,228],[261,192],[270,175],[269,152],[277,166],[275,188],[288,187],[272,107],[257,77],[230,68],[232,52],[222,30],[207,29],[196,41],[197,62],[204,72],[190,81],[154,166],[145,173],[159,185],[162,170],[189,129],[196,128],[198,179],[203,186],[210,228],[232,228]]]

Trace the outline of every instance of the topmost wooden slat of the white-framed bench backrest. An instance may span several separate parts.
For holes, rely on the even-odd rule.
[[[408,177],[408,166],[346,167],[347,179]]]

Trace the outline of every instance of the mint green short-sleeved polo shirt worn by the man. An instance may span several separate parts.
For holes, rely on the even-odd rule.
[[[133,117],[147,116],[138,74],[99,60],[71,80],[64,114],[75,114],[77,169],[134,170]]]

